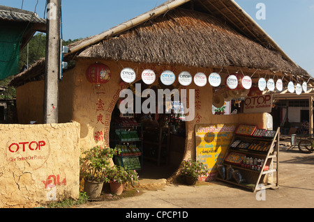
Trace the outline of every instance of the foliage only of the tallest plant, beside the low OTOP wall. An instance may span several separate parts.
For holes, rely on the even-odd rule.
[[[85,180],[108,182],[107,171],[110,166],[110,159],[121,150],[95,146],[83,152],[84,157],[80,159],[81,174]]]

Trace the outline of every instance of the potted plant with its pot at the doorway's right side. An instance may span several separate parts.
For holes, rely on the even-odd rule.
[[[206,166],[200,161],[194,161],[192,159],[182,161],[181,175],[188,185],[195,184],[200,176],[206,175],[207,173]]]

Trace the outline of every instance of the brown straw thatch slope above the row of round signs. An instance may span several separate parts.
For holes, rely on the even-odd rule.
[[[172,10],[128,33],[104,40],[85,49],[79,56],[195,67],[237,66],[306,74],[278,52],[249,40],[220,20],[184,9]]]

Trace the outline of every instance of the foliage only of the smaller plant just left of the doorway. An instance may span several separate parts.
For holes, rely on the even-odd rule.
[[[126,171],[122,166],[114,165],[111,168],[108,168],[107,179],[109,182],[117,182],[119,184],[124,184],[126,182],[134,184],[138,181],[138,175],[136,171]]]

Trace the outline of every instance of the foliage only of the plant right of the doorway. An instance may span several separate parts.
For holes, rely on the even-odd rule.
[[[182,161],[181,175],[198,178],[208,173],[206,166],[200,161],[192,159]]]

